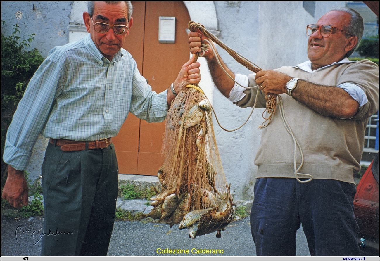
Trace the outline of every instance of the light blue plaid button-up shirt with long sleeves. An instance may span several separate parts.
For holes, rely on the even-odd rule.
[[[167,110],[166,90],[152,91],[127,51],[109,62],[89,35],[49,52],[13,116],[3,160],[23,170],[40,133],[94,141],[116,136],[128,112],[160,122]]]

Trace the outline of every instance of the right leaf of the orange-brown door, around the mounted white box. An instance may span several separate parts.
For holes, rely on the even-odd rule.
[[[174,44],[158,43],[159,16],[176,17]],[[188,37],[185,29],[190,16],[183,2],[147,2],[146,17],[149,19],[145,20],[143,76],[149,79],[152,90],[159,93],[168,89],[177,78],[182,65],[188,61]],[[161,147],[164,132],[165,122],[140,121],[138,174],[157,175],[163,163]],[[146,164],[146,160],[150,164]]]

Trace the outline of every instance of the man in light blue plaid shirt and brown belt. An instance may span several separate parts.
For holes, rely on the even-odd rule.
[[[41,133],[50,138],[42,165],[42,255],[106,255],[115,219],[118,167],[111,137],[128,112],[165,119],[182,81],[200,81],[190,59],[155,93],[121,49],[133,18],[130,2],[89,3],[87,37],[52,49],[31,79],[6,136],[9,164],[2,198],[28,204],[26,169]],[[112,28],[110,30],[110,28]]]

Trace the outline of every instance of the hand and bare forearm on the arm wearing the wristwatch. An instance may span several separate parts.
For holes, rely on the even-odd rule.
[[[280,94],[286,93],[286,84],[293,78],[287,74],[268,70],[259,71],[255,79],[257,84],[261,84],[264,94]],[[332,117],[350,119],[359,109],[359,103],[344,89],[336,86],[317,85],[298,80],[297,87],[291,94],[294,99],[310,109]]]

